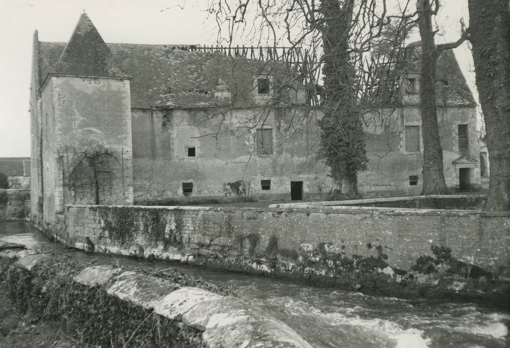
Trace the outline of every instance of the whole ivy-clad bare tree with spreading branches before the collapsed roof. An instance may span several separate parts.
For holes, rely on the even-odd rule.
[[[395,67],[401,58],[397,58],[396,50],[377,52],[376,48],[382,42],[392,48],[401,44],[409,20],[402,16],[389,20],[386,0],[220,0],[212,2],[209,10],[218,22],[220,40],[229,45],[239,36],[247,36],[258,42],[269,41],[275,48],[285,42],[290,49],[304,53],[297,61],[286,61],[299,72],[292,74],[291,69],[288,80],[301,79],[311,104],[316,105],[317,86],[323,79],[320,93],[324,116],[318,122],[321,137],[317,152],[331,168],[335,187],[358,196],[357,174],[367,162],[362,110],[380,107],[383,97],[395,104],[396,98],[386,94],[394,95],[399,81],[395,75],[401,73]],[[386,30],[385,36],[389,24],[391,35]],[[383,92],[381,87],[390,85],[389,81],[390,93]]]

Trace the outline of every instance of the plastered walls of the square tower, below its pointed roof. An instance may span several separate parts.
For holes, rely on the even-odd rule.
[[[96,161],[100,203],[133,203],[130,104],[129,80],[52,76],[43,86],[45,227],[54,225],[65,204],[94,204],[95,183],[85,153],[111,154],[107,166]],[[88,169],[72,176],[80,166]]]

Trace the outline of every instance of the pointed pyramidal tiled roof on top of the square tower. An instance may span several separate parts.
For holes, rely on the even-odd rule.
[[[124,73],[115,63],[107,44],[84,12],[55,67],[57,73],[120,77]]]

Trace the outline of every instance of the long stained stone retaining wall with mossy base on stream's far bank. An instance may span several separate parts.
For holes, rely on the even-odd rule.
[[[67,206],[65,219],[57,237],[89,251],[391,295],[510,300],[506,213]]]

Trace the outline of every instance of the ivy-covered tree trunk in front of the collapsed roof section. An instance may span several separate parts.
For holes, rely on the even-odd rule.
[[[322,27],[324,116],[321,127],[321,156],[331,167],[334,189],[331,196],[358,197],[359,171],[366,169],[365,134],[355,89],[355,70],[349,58],[349,32],[354,0],[321,0],[327,18]]]

